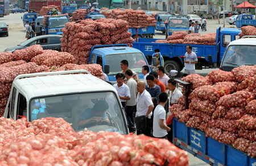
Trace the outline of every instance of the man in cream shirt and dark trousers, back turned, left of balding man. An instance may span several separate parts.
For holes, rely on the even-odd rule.
[[[127,78],[127,86],[130,90],[131,98],[126,102],[126,117],[128,121],[128,127],[130,133],[134,133],[136,128],[134,127],[134,112],[136,107],[136,95],[137,95],[137,82],[133,79],[133,71],[126,70],[125,76]]]

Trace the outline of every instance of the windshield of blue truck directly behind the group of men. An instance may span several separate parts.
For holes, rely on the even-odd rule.
[[[142,66],[147,65],[146,59],[142,53],[112,54],[106,56],[106,65],[110,66],[109,75],[115,75],[121,72],[120,62],[126,59],[129,63],[129,69],[136,73],[141,73]]]

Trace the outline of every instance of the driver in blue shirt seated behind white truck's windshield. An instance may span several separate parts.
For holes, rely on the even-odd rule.
[[[108,103],[105,100],[98,100],[93,108],[88,108],[81,114],[80,120],[77,125],[86,126],[90,122],[96,122],[96,124],[110,125],[109,118],[106,114],[106,110],[109,109]]]

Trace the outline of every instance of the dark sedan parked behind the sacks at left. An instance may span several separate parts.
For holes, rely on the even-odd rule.
[[[43,49],[60,50],[61,35],[42,35],[26,40],[18,45],[5,49],[5,52],[14,52],[18,49],[27,48],[28,46],[40,44]]]

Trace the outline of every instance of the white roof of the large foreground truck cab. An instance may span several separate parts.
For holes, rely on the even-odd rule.
[[[64,73],[50,72],[53,73]],[[70,71],[69,71],[70,72]],[[40,74],[40,73],[39,73]],[[97,91],[115,91],[115,88],[109,83],[104,82],[91,74],[65,74],[65,75],[47,75],[34,76],[38,74],[23,74],[17,76],[13,84],[28,99],[36,96],[52,96],[58,94],[68,94],[76,92],[97,92]],[[26,77],[27,76],[27,77]]]

